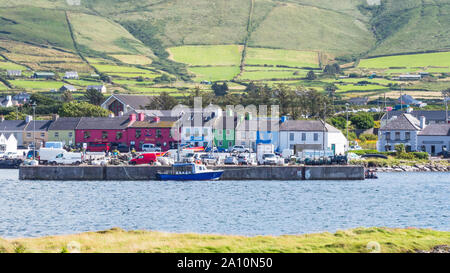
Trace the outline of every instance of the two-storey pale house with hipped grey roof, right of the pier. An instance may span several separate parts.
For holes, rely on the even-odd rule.
[[[418,150],[418,134],[425,129],[425,117],[420,121],[411,114],[402,114],[387,121],[378,131],[377,150],[394,151],[395,145],[404,144],[406,151]]]

